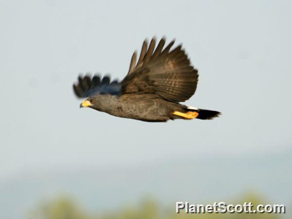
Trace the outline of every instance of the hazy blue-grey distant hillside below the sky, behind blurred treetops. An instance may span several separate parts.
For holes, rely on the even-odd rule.
[[[148,195],[168,208],[175,202],[228,202],[245,192],[291,206],[290,157],[189,157],[139,166],[31,171],[0,181],[0,218],[22,219],[28,209],[58,194],[72,195],[90,212],[135,206]]]

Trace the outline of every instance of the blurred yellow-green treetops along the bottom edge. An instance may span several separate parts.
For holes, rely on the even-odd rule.
[[[233,200],[234,204],[243,204],[246,201],[252,202],[254,205],[267,204],[257,195],[249,194],[238,200]],[[159,203],[153,200],[143,200],[136,206],[127,208],[114,208],[108,212],[89,213],[82,209],[70,197],[59,197],[51,199],[49,202],[40,204],[34,210],[29,212],[29,219],[184,219],[184,218],[230,218],[230,219],[249,219],[249,218],[266,218],[277,219],[282,218],[282,214],[268,214],[268,213],[226,213],[226,214],[186,214],[174,213],[175,207],[162,210]]]

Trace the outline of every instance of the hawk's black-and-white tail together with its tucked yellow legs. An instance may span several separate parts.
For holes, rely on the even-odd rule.
[[[184,108],[185,112],[175,111],[173,114],[184,119],[213,119],[221,115],[218,111],[212,111],[209,109],[200,109],[192,106]]]

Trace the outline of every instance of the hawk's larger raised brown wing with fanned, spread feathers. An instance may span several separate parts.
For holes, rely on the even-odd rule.
[[[165,42],[162,38],[155,49],[154,38],[149,47],[145,40],[137,63],[134,52],[129,72],[122,81],[121,94],[158,94],[169,101],[182,102],[195,93],[197,70],[181,45],[170,51],[174,41],[163,49]]]

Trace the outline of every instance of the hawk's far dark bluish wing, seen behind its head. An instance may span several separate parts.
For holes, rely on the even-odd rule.
[[[92,97],[97,94],[119,95],[121,92],[121,83],[118,81],[110,82],[108,76],[102,79],[95,75],[93,78],[86,75],[83,78],[78,77],[78,84],[73,84],[73,89],[77,97]]]

